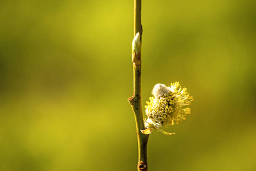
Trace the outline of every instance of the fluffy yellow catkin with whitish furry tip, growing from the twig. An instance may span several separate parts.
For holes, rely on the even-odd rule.
[[[186,105],[191,105],[193,96],[190,96],[186,88],[181,88],[180,83],[175,82],[170,84],[170,87],[164,84],[156,84],[152,90],[153,97],[149,97],[147,101],[146,115],[144,121],[145,130],[141,132],[149,134],[153,129],[157,129],[165,135],[173,135],[162,131],[161,127],[166,125],[179,124],[182,120],[186,120],[186,115],[190,114],[190,108],[185,108]]]

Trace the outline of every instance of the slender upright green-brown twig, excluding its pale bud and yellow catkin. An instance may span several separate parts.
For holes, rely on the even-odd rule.
[[[141,0],[134,0],[134,35],[136,35],[137,32],[140,32],[140,35],[142,35],[143,32],[141,26]],[[141,61],[141,54],[136,55],[133,53],[133,59],[134,58]],[[147,171],[147,144],[149,135],[144,135],[141,133],[141,130],[145,129],[143,121],[143,108],[141,103],[141,62],[140,64],[133,63],[133,96],[128,100],[131,104],[136,122],[139,150],[139,162],[137,169],[138,171]]]

